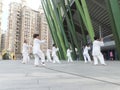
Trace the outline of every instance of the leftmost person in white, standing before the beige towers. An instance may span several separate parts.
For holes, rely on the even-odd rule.
[[[23,56],[23,61],[22,63],[25,64],[29,61],[29,48],[32,47],[31,45],[27,44],[27,41],[24,40],[23,47],[22,47],[22,56]]]

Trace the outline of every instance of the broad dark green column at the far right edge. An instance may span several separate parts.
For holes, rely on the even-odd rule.
[[[112,32],[115,39],[118,59],[120,60],[120,7],[118,0],[105,0],[108,7]]]

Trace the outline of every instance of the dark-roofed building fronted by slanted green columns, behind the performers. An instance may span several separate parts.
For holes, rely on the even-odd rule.
[[[83,59],[82,46],[86,43],[92,45],[94,36],[98,36],[104,38],[105,46],[101,50],[108,60],[110,51],[114,53],[114,59],[120,60],[119,2],[120,0],[42,0],[53,40],[62,49],[62,59],[66,59],[65,50],[69,44],[72,49],[78,49],[79,57]],[[77,56],[75,50],[73,54]]]

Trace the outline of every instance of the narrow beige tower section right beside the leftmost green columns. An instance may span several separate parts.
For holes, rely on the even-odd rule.
[[[41,40],[46,40],[45,44],[41,45],[41,49],[46,52],[47,49],[52,49],[52,37],[42,8],[40,9],[40,31]]]

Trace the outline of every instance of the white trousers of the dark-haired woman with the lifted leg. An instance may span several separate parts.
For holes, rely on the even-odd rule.
[[[45,55],[42,51],[38,52],[37,54],[34,54],[34,57],[34,65],[39,65],[39,59],[41,59],[41,62],[45,62]]]

